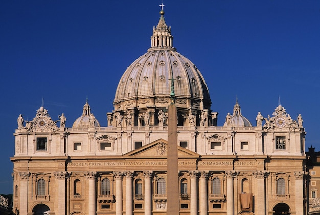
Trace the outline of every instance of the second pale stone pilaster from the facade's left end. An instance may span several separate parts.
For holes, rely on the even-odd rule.
[[[58,184],[59,192],[56,193],[56,198],[58,199],[58,214],[66,214],[66,205],[65,205],[65,196],[66,196],[66,189],[65,189],[65,178],[67,176],[67,172],[54,172],[54,176],[56,182]]]

